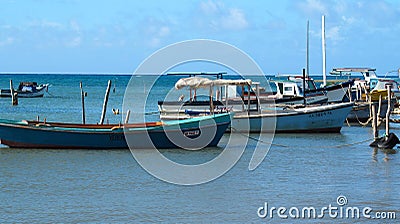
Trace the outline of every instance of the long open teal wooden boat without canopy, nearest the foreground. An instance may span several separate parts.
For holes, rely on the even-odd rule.
[[[231,114],[188,120],[123,125],[96,125],[0,120],[1,144],[11,148],[149,149],[216,146]],[[207,141],[202,136],[208,136]],[[200,138],[200,140],[199,140]]]

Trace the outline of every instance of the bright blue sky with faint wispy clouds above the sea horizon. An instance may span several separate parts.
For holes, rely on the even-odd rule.
[[[396,0],[0,0],[0,72],[132,73],[157,50],[211,39],[252,57],[265,74],[400,68]]]

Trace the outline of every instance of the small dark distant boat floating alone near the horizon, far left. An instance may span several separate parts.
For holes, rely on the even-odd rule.
[[[21,82],[16,90],[20,98],[35,98],[43,97],[44,93],[48,90],[49,84],[40,84],[37,82]],[[10,89],[1,89],[0,97],[11,97]]]

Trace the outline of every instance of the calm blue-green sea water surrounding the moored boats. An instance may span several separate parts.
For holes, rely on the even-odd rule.
[[[157,100],[169,93],[179,77],[159,80],[149,94],[148,104],[133,108],[133,120],[147,112],[147,120],[157,120]],[[112,80],[107,119],[117,123],[124,115],[122,100],[129,76],[93,75],[1,75],[0,87],[20,81],[50,83],[44,98],[19,99],[11,106],[0,99],[0,118],[81,122],[79,82],[83,82],[86,119],[100,119],[107,81]],[[135,91],[129,100],[143,102],[151,82],[135,77]],[[181,92],[171,93],[178,97]],[[186,94],[187,95],[187,94]],[[175,98],[176,99],[176,98]],[[135,115],[136,114],[136,115]],[[143,115],[143,114],[142,114]],[[136,117],[135,117],[136,116]],[[400,127],[392,131],[400,135]],[[381,130],[381,133],[383,131]],[[217,156],[226,145],[196,152],[164,150],[176,161],[197,164]],[[233,136],[233,138],[239,136]],[[395,151],[374,150],[368,145],[370,128],[344,126],[340,134],[279,134],[267,157],[254,171],[248,165],[256,142],[225,175],[206,184],[179,186],[163,182],[141,168],[129,150],[24,150],[0,149],[1,223],[136,223],[136,222],[374,222],[373,219],[281,219],[257,215],[265,202],[271,207],[338,206],[338,196],[347,205],[376,211],[394,211],[400,218],[400,158]],[[262,139],[261,139],[262,140]],[[364,141],[365,140],[365,141]],[[237,150],[232,148],[230,150]],[[375,213],[371,213],[373,216]],[[288,212],[286,212],[288,215]],[[394,223],[396,220],[379,220]]]

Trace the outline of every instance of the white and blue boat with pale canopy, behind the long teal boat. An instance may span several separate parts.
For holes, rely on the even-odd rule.
[[[208,80],[206,78],[197,78],[197,81],[192,78],[184,78],[178,80],[175,87],[177,89],[188,87],[190,91],[196,88],[209,88],[209,100],[203,100],[200,104],[196,102],[195,98],[189,103],[180,102],[181,107],[178,107],[180,109],[176,109],[179,102],[161,102],[159,103],[159,111],[162,120],[188,119],[193,116],[228,110],[235,111],[231,129],[238,132],[340,132],[354,105],[352,102],[313,106],[278,105],[273,98],[268,102],[261,103],[259,83],[257,82],[251,80]],[[244,89],[244,86],[252,89],[251,86],[255,85],[256,91],[246,97],[243,95],[244,91],[242,91],[242,94],[238,96],[235,91],[230,92],[236,90],[236,88],[231,88],[236,85],[240,86],[241,89]],[[224,93],[219,94],[220,96],[225,95],[225,98],[213,98],[213,87],[216,86],[225,87],[223,88]],[[191,96],[193,95],[191,94]],[[174,105],[174,107],[168,107],[169,105]]]

